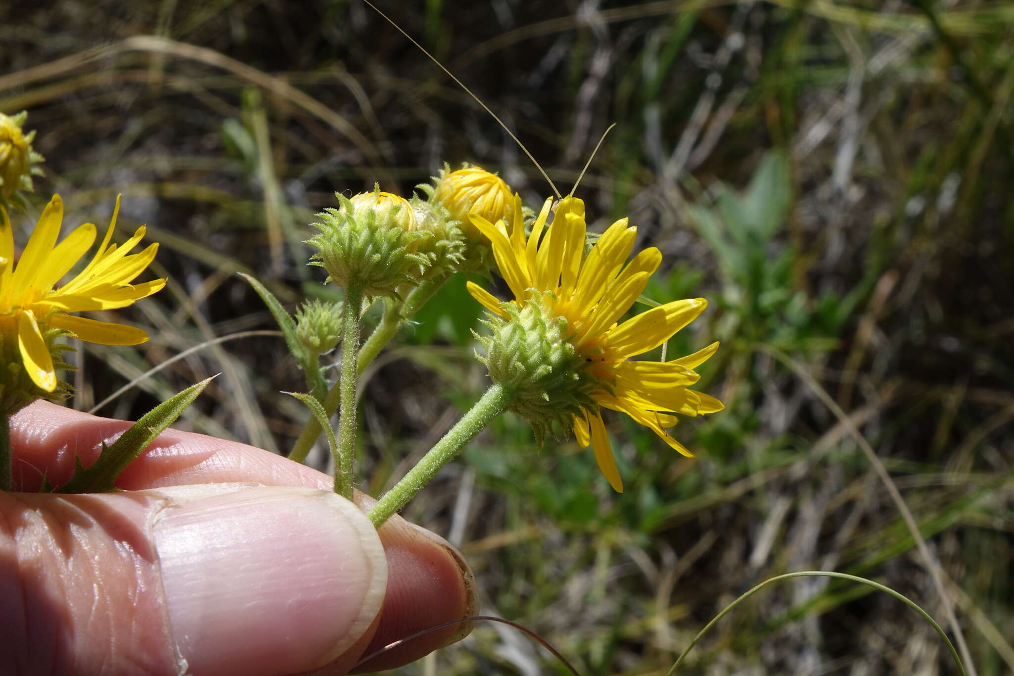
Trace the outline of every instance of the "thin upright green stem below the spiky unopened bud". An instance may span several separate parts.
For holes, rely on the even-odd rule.
[[[360,315],[363,291],[357,284],[345,290],[345,312],[342,317],[342,375],[339,382],[340,410],[338,420],[338,457],[335,458],[335,492],[352,499],[352,467],[356,457],[356,380],[359,372],[359,332],[363,325]],[[331,392],[329,392],[329,395]]]

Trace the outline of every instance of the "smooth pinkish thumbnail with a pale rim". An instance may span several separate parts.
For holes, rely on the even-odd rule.
[[[162,492],[154,525],[169,626],[193,676],[319,668],[380,610],[387,568],[369,520],[323,491]]]

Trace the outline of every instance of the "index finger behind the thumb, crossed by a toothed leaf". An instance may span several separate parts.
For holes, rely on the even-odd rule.
[[[11,419],[15,486],[37,491],[43,475],[54,485],[67,481],[74,472],[75,456],[88,466],[98,457],[101,443],[113,443],[130,425],[46,401],[23,408]],[[117,486],[141,490],[229,481],[330,491],[334,479],[252,446],[166,430],[121,474]],[[358,492],[356,502],[363,509],[372,504]],[[387,594],[380,625],[364,655],[427,627],[477,614],[475,578],[456,549],[399,516],[388,520],[379,534],[387,553]],[[387,660],[384,665],[406,664],[469,630],[469,624],[458,624],[427,633],[380,660]]]

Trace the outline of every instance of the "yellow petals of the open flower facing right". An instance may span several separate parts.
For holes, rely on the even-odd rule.
[[[715,397],[687,389],[700,377],[694,369],[715,354],[718,343],[667,362],[631,361],[693,321],[707,301],[677,300],[617,323],[644,291],[661,253],[647,248],[625,266],[637,233],[627,219],[613,223],[586,252],[584,203],[564,199],[548,227],[552,204],[552,199],[546,201],[527,238],[517,196],[510,233],[503,221],[493,225],[477,216],[472,221],[492,242],[500,273],[514,294],[512,302],[521,307],[536,300],[549,303],[549,314],[566,320],[565,340],[585,364],[585,375],[592,376],[590,391],[583,392],[592,403],[583,404],[583,416],[574,417],[574,433],[582,447],[592,444],[602,474],[622,492],[599,407],[627,414],[679,453],[693,456],[665,428],[676,424],[672,414],[697,416],[723,408]],[[469,282],[468,291],[492,312],[509,316],[481,287]]]

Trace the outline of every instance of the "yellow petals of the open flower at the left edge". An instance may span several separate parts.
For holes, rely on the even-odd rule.
[[[16,332],[17,347],[27,375],[42,390],[53,392],[58,384],[53,356],[44,333],[50,328],[69,331],[88,343],[137,345],[148,334],[135,326],[76,317],[70,312],[126,307],[150,296],[165,280],[130,284],[154,259],[158,244],[127,255],[144,237],[141,226],[123,246],[110,244],[120,199],[101,245],[88,265],[70,282],[54,286],[84,255],[95,240],[95,226],[85,223],[57,244],[63,220],[63,202],[56,195],[43,210],[39,223],[14,264],[14,237],[7,213],[0,224],[0,333]]]

